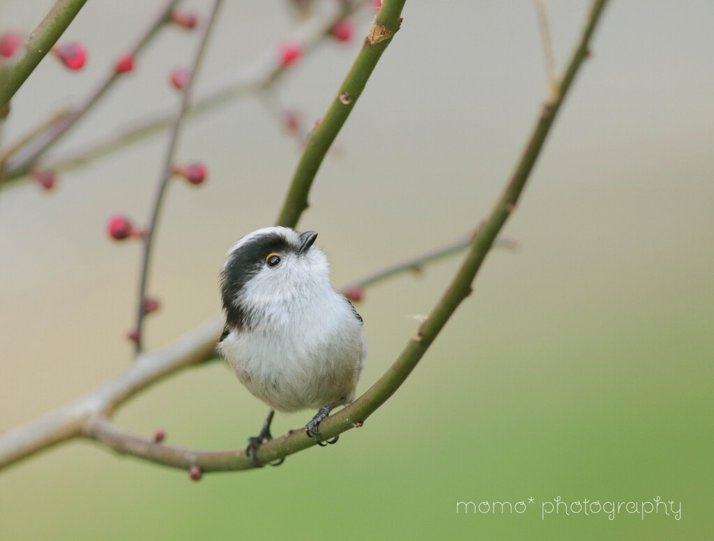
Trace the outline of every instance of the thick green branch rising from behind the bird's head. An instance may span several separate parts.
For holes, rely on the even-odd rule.
[[[406,0],[385,0],[364,45],[319,126],[311,133],[278,216],[278,226],[295,227],[308,207],[308,193],[315,175],[364,90],[379,58],[401,24]]]

